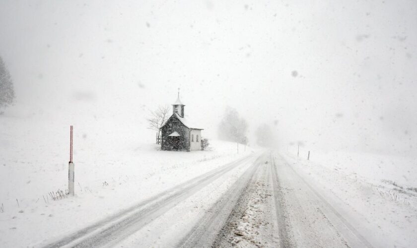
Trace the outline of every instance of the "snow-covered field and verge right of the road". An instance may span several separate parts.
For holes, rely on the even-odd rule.
[[[282,154],[371,244],[417,244],[416,160],[348,152]]]

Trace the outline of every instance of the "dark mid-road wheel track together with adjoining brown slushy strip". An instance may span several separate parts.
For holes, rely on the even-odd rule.
[[[260,156],[177,247],[278,247],[270,160]]]

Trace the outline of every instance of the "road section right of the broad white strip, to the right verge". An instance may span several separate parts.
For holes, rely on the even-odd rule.
[[[278,163],[272,153],[261,156],[177,247],[372,247],[286,161]]]

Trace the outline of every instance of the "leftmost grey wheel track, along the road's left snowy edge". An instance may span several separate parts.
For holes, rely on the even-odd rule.
[[[181,200],[207,186],[219,176],[236,167],[251,163],[256,155],[246,156],[207,172],[44,247],[100,247],[116,243],[138,231],[147,223],[168,211]]]

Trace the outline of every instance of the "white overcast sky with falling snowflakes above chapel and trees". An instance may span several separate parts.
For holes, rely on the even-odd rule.
[[[416,154],[416,0],[1,0],[0,56],[36,113],[144,126],[180,87],[208,136],[230,106],[283,145]]]

